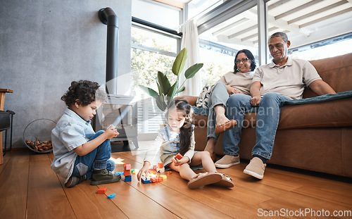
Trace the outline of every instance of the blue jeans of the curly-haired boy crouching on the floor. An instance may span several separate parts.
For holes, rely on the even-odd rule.
[[[95,139],[99,135],[103,134],[103,130],[96,132],[89,141]],[[106,139],[101,145],[97,146],[96,149],[89,152],[84,156],[77,156],[75,161],[75,168],[73,168],[72,176],[79,177],[86,175],[86,180],[92,177],[94,168],[96,169],[107,169],[113,171],[115,169],[115,162],[109,160],[111,157],[111,145],[110,139]]]

